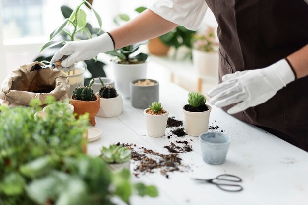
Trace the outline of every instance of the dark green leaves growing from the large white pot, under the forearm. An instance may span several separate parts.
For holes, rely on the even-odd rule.
[[[144,63],[148,58],[147,54],[141,52],[141,53],[138,53],[137,55],[133,55],[133,53],[136,52],[141,45],[144,45],[147,43],[148,43],[147,41],[143,41],[137,44],[123,47],[121,49],[117,49],[114,51],[108,51],[106,53],[117,57],[116,60],[114,61],[115,63],[119,63],[119,64]]]

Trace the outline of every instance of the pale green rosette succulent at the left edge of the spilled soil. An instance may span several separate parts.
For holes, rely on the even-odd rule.
[[[130,160],[131,150],[122,145],[110,145],[103,147],[101,157],[106,163],[123,163]]]

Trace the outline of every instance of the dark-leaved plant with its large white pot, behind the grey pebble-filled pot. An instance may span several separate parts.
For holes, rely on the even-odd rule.
[[[115,85],[123,98],[130,98],[130,82],[137,79],[145,79],[147,75],[147,58],[145,53],[135,52],[139,46],[146,44],[141,42],[126,46],[122,49],[108,51],[107,54],[116,56],[112,60],[111,67],[114,72]]]

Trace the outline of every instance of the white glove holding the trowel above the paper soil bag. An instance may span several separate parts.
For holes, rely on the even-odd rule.
[[[50,64],[58,61],[63,55],[69,55],[68,58],[62,61],[62,68],[64,72],[74,70],[75,63],[94,58],[101,52],[107,52],[114,49],[113,41],[108,33],[104,33],[96,38],[73,41],[66,43],[50,61]]]

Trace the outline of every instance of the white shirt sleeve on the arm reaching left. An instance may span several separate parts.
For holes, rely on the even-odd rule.
[[[208,6],[205,0],[151,0],[148,9],[190,30],[200,26]]]

